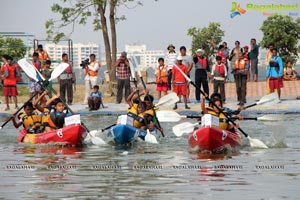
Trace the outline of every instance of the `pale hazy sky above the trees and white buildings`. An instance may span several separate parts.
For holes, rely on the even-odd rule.
[[[0,32],[28,32],[37,39],[46,38],[45,22],[49,18],[57,18],[51,12],[51,5],[58,0],[2,0],[0,7],[1,26]],[[146,44],[148,49],[166,49],[173,43],[176,49],[181,45],[190,48],[191,37],[187,36],[190,27],[204,27],[209,22],[221,23],[225,30],[224,41],[233,47],[234,41],[239,40],[241,45],[248,45],[250,38],[258,42],[262,38],[259,27],[267,17],[261,11],[247,10],[249,3],[265,4],[298,4],[298,10],[293,12],[300,17],[300,1],[270,1],[270,0],[237,0],[246,13],[230,18],[232,2],[228,0],[145,0],[144,6],[134,9],[120,8],[118,15],[125,15],[127,20],[117,24],[118,50],[121,51],[125,44],[138,42]],[[266,13],[288,11],[265,11]],[[66,32],[67,34],[67,32]],[[73,43],[98,43],[103,44],[102,33],[93,32],[91,23],[85,26],[78,25],[71,35]],[[103,47],[102,47],[103,49]]]

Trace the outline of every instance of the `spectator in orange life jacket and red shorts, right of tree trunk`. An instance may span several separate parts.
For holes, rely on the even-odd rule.
[[[168,66],[165,65],[164,59],[158,59],[158,66],[155,71],[156,91],[158,92],[158,99],[161,98],[161,92],[167,95],[168,92]]]

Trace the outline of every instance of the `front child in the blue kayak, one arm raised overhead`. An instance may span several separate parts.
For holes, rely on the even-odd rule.
[[[127,98],[129,105],[127,115],[134,119],[133,127],[151,131],[154,129],[153,110],[147,110],[146,103],[143,101],[134,101],[134,96],[138,91],[138,89],[133,90]]]

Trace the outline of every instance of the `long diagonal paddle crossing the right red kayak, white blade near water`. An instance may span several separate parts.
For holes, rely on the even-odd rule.
[[[178,69],[178,71],[184,76],[184,78],[191,83],[196,89],[198,89],[202,95],[206,96],[206,94],[201,90],[200,87],[198,87],[177,65],[175,65],[175,67]],[[230,117],[228,116],[228,114],[224,113],[222,109],[220,109],[218,106],[216,106],[216,104],[206,96],[206,99],[213,105],[215,106],[220,113],[222,113],[233,125],[236,126],[236,123],[230,119]],[[255,148],[268,148],[267,145],[265,145],[262,141],[258,140],[258,139],[252,139],[247,133],[245,133],[240,127],[238,128],[238,130],[249,140],[250,146],[251,147],[255,147]]]

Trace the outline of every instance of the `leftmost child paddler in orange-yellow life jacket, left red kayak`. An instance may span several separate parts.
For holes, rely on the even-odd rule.
[[[18,115],[20,122],[16,122],[16,117],[11,116],[13,125],[15,128],[19,128],[21,125],[26,129],[27,133],[38,133],[41,126],[41,116],[34,109],[32,102],[26,102],[24,104],[24,113]]]

